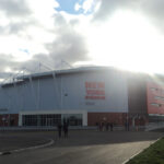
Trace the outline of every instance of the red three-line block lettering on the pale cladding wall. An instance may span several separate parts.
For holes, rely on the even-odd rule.
[[[85,99],[105,99],[104,82],[85,82]]]

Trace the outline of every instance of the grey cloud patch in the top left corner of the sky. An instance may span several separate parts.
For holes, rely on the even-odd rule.
[[[4,11],[10,17],[30,15],[25,0],[0,0],[0,10]]]

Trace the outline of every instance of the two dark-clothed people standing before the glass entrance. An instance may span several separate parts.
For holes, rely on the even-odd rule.
[[[63,125],[61,125],[61,122],[58,124],[59,138],[61,138],[62,130],[63,130],[65,138],[68,138],[68,128],[69,128],[69,121],[63,120]]]

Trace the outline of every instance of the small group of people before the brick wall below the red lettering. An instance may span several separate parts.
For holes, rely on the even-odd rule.
[[[99,131],[108,131],[110,129],[110,131],[113,131],[114,129],[114,124],[113,122],[96,122],[97,129]]]

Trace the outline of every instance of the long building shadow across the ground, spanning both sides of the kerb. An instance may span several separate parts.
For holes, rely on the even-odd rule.
[[[59,139],[58,131],[36,132],[0,132],[0,152],[14,149],[30,148],[45,144],[49,139],[55,140],[54,147],[101,145],[113,143],[139,142],[156,140],[163,132],[144,131],[96,131],[96,130],[70,130],[69,137]]]

